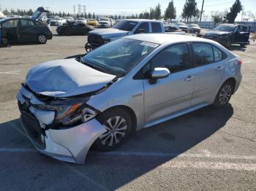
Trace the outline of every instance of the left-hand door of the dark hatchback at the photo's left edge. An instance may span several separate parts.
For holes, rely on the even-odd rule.
[[[1,24],[2,36],[9,42],[18,42],[18,19],[10,19]]]

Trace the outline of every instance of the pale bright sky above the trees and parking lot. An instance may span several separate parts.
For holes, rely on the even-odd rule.
[[[182,8],[186,0],[173,0],[177,15],[181,15]],[[201,9],[203,0],[196,0],[197,8]],[[205,15],[211,15],[211,11],[225,11],[232,6],[235,0],[205,0]],[[155,7],[157,3],[161,5],[162,13],[170,0],[0,0],[1,10],[7,9],[37,9],[37,7],[49,7],[49,10],[55,12],[73,13],[78,12],[78,4],[86,5],[86,12],[95,12],[102,15],[130,15],[149,10],[149,7]],[[256,0],[241,0],[246,12],[251,11],[256,15]],[[83,12],[83,7],[81,8]],[[241,17],[241,15],[238,15]]]

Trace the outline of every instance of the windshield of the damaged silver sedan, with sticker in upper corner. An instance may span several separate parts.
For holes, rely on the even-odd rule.
[[[151,42],[123,38],[89,52],[82,60],[94,69],[123,77],[158,46]]]

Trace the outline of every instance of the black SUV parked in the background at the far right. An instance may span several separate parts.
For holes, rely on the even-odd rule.
[[[230,47],[231,44],[240,44],[241,47],[245,47],[249,44],[249,32],[249,26],[221,24],[212,31],[208,31],[204,38],[217,41],[225,47]]]

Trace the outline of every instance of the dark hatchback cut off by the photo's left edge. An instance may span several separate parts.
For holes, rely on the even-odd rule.
[[[0,20],[1,34],[8,42],[37,42],[44,44],[53,38],[48,24],[31,18],[4,18]]]

